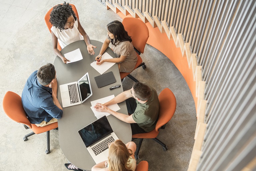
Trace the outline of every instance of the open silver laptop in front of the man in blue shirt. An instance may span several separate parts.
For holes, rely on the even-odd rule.
[[[78,82],[60,85],[62,107],[74,106],[85,102],[92,96],[88,72]]]

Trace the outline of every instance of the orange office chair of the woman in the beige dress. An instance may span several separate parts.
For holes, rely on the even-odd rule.
[[[148,41],[148,37],[149,37],[148,27],[143,21],[137,18],[132,18],[132,17],[124,18],[122,24],[124,25],[124,29],[128,32],[128,35],[131,36],[132,44],[134,46],[135,51],[137,52],[138,60],[134,67],[134,70],[141,66],[143,69],[145,69],[146,65],[144,62],[142,62],[140,54],[144,53],[144,48]],[[126,76],[131,78],[133,81],[138,82],[138,80],[133,76],[131,76],[130,73],[120,72],[121,79],[124,79],[124,77]]]

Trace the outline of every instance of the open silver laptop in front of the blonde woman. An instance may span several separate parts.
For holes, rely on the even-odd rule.
[[[108,159],[108,145],[118,140],[106,116],[78,131],[96,164]]]

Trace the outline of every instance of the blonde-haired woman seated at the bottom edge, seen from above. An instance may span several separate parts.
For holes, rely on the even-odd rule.
[[[134,142],[124,144],[121,140],[116,140],[109,146],[108,160],[93,166],[92,171],[135,171],[135,150]]]

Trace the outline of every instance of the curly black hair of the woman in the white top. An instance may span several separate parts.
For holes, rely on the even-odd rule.
[[[64,30],[65,24],[68,18],[73,15],[76,20],[75,12],[72,9],[72,6],[69,3],[64,2],[63,4],[58,4],[53,7],[50,14],[50,22],[52,25],[58,29]]]

